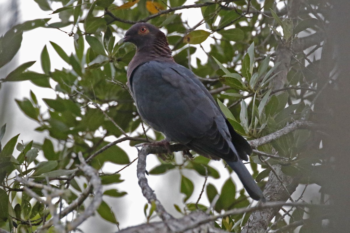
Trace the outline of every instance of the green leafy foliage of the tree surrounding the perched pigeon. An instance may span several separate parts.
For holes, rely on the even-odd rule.
[[[35,2],[42,10],[58,14],[61,21],[37,19],[10,29],[0,38],[0,67],[7,64],[20,48],[23,32],[37,27],[62,30],[71,27],[72,32],[69,34],[73,36],[75,53],[67,54],[60,42],[51,38],[52,41],[43,47],[40,61],[28,61],[0,80],[0,85],[1,82],[30,80],[56,93],[55,99],[43,99],[47,108],[38,105],[33,92],[30,99],[16,100],[23,113],[40,125],[36,131],[47,131],[50,137],[42,143],[18,143],[20,136],[17,135],[6,143],[2,142],[0,226],[4,229],[34,231],[54,215],[50,206],[38,199],[47,196],[47,191],[31,187],[35,198],[32,192],[23,189],[23,183],[15,179],[15,174],[42,185],[50,184],[58,190],[66,190],[59,202],[53,203],[54,209],[59,208],[61,202],[71,204],[84,192],[82,187],[86,188],[89,183],[84,173],[77,168],[80,164],[77,158],[79,153],[100,172],[103,185],[128,182],[123,180],[126,177],[123,177],[122,172],[104,174],[100,169],[106,162],[122,165],[130,163],[126,152],[117,144],[110,145],[105,138],[124,137],[125,132],[135,135],[141,124],[126,87],[125,67],[135,50],[131,44],[118,44],[116,38],[123,37],[131,23],[148,21],[166,29],[175,61],[202,77],[201,80],[215,95],[229,122],[247,139],[261,138],[296,120],[312,119],[310,108],[315,98],[315,74],[319,60],[309,57],[313,56],[317,48],[305,54],[303,49],[294,51],[293,45],[299,43],[298,36],[302,33],[308,37],[322,30],[327,18],[321,21],[318,13],[310,10],[310,7],[322,12],[321,9],[328,6],[325,3],[306,1],[300,7],[298,17],[290,18],[286,15],[290,1],[285,1],[287,6],[273,0],[199,1],[191,8],[201,9],[203,20],[200,24],[205,24],[206,28],[197,29],[200,24],[189,26],[181,17],[182,13],[174,10],[184,6],[186,1],[183,0],[169,0],[167,4],[145,0],[56,0],[62,3],[58,9],[51,9],[48,0]],[[201,43],[210,43],[210,49],[204,50],[201,45],[197,45]],[[317,47],[317,44],[313,45]],[[283,73],[281,66],[284,66],[276,54],[281,45],[288,48],[292,61],[286,70],[284,85],[276,88],[274,81],[280,78],[279,75]],[[51,68],[52,54],[49,54],[48,46],[54,48],[69,68]],[[191,57],[188,56],[195,54],[196,50],[203,50],[206,57],[189,62]],[[30,71],[35,62],[41,63],[42,73]],[[5,127],[0,130],[0,140],[5,134]],[[148,134],[147,138],[162,139],[159,133],[155,133],[155,137],[151,135]],[[287,175],[303,176],[301,183],[322,185],[322,181],[317,180],[322,160],[305,152],[306,147],[315,149],[314,144],[308,145],[310,138],[310,131],[299,129],[259,146],[259,151],[281,157],[252,155],[251,167],[261,187],[264,187],[265,177],[274,164],[282,164],[282,171]],[[131,145],[147,141],[143,132],[125,140],[130,140]],[[57,144],[60,146],[54,147]],[[40,151],[44,160],[37,158]],[[210,165],[209,159],[202,156],[187,158],[182,164],[176,163],[172,157],[166,160],[160,159],[160,165],[150,170],[149,174],[163,174],[169,170],[177,170],[182,174],[184,169],[188,169],[201,176],[219,178],[218,171]],[[256,163],[261,165],[262,170],[257,169]],[[84,185],[78,184],[77,177],[85,177]],[[181,177],[179,192],[184,194],[183,203],[186,207],[185,210],[181,210],[178,205],[175,208],[182,213],[197,208],[207,210],[209,206],[189,202],[198,184],[194,184],[191,177]],[[205,185],[204,191],[209,202],[219,195],[213,212],[220,213],[250,204],[244,190],[237,190],[231,178],[224,182],[219,191],[211,183]],[[127,194],[110,189],[104,195],[118,198]],[[74,211],[84,211],[84,205],[76,207]],[[148,222],[153,217],[154,203],[145,205],[144,209]],[[294,210],[293,217],[299,212],[300,209]],[[107,221],[118,224],[106,202],[100,204],[97,213]],[[240,231],[248,216],[248,213],[227,216],[217,221],[217,227],[232,232]],[[302,218],[302,213],[298,216],[294,221]],[[286,224],[281,218],[278,227]]]

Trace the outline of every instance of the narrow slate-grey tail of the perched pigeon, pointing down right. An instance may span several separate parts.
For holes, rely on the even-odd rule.
[[[249,196],[253,198],[254,200],[259,201],[265,200],[264,195],[262,194],[261,189],[257,185],[257,183],[254,181],[252,175],[248,171],[248,169],[245,167],[244,163],[238,159],[238,161],[226,161],[225,162],[232,168],[233,171],[236,172],[238,175],[240,181],[242,182],[245,190],[247,190]]]

